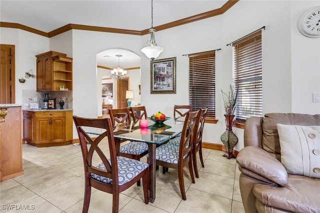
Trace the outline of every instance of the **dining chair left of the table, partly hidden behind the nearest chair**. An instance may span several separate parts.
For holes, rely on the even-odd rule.
[[[113,127],[121,123],[131,123],[131,114],[129,108],[119,108],[109,110],[110,119]],[[121,140],[124,142],[127,140]],[[139,161],[143,156],[148,153],[148,145],[140,141],[130,141],[119,147],[119,156],[131,158]],[[140,186],[140,180],[136,182],[137,186]]]

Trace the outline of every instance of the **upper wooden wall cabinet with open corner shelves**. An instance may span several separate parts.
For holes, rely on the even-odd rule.
[[[37,92],[72,90],[72,58],[54,51],[35,57]]]

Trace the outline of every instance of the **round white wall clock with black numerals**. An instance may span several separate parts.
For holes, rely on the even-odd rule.
[[[320,6],[308,9],[301,15],[298,20],[298,29],[307,37],[320,37]]]

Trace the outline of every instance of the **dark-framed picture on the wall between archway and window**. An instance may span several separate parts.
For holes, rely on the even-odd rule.
[[[150,61],[150,93],[176,93],[176,57]]]

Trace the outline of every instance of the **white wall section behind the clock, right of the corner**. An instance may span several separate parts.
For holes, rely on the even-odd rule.
[[[320,114],[320,103],[312,102],[312,92],[320,92],[320,38],[308,38],[297,29],[297,20],[320,1],[291,3],[291,91],[292,112]]]

